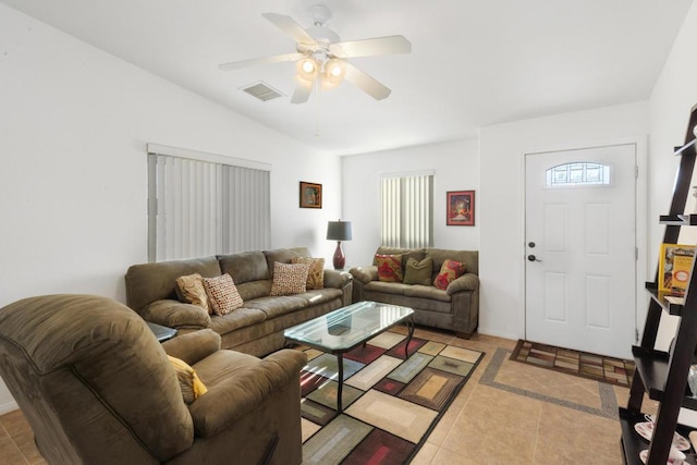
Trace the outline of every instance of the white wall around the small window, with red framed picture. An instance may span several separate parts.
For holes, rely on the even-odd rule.
[[[353,241],[342,244],[346,265],[372,262],[380,245],[380,174],[433,170],[433,245],[440,248],[477,249],[479,189],[476,139],[408,147],[342,158],[343,220],[351,221]],[[445,193],[475,191],[475,225],[445,225]]]

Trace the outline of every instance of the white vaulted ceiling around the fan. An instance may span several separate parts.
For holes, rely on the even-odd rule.
[[[356,154],[476,136],[478,127],[648,99],[692,0],[0,0],[318,150]],[[351,62],[392,89],[347,83],[291,105],[295,51],[261,16],[310,26],[323,3],[342,40],[401,34],[409,54]],[[285,97],[261,102],[264,81]]]

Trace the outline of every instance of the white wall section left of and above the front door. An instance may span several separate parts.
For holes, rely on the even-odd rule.
[[[617,139],[644,140],[648,102],[485,127],[480,147],[479,331],[509,339],[525,333],[524,155]]]

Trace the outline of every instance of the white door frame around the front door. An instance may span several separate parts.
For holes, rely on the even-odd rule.
[[[647,152],[647,136],[633,136],[633,137],[617,137],[610,139],[596,139],[587,143],[570,143],[570,144],[559,144],[559,145],[550,145],[541,148],[530,148],[523,150],[523,156],[519,160],[519,173],[522,178],[521,186],[521,196],[519,198],[519,207],[521,211],[523,211],[523,218],[521,221],[521,273],[522,273],[522,282],[523,282],[523,315],[521,316],[521,325],[522,330],[521,334],[523,334],[523,339],[527,338],[527,325],[526,325],[526,313],[527,313],[527,276],[526,276],[526,267],[525,267],[525,256],[526,256],[526,245],[525,245],[525,227],[527,221],[527,208],[526,208],[526,192],[527,192],[527,178],[526,178],[526,169],[525,169],[525,160],[528,155],[535,154],[548,154],[554,151],[566,151],[566,150],[580,150],[587,148],[598,148],[598,147],[608,147],[615,145],[634,145],[636,150],[636,166],[638,169],[638,173],[636,176],[636,193],[635,193],[635,229],[636,229],[636,247],[637,247],[637,259],[635,267],[635,309],[634,309],[634,325],[635,325],[635,333],[637,334],[637,341],[641,339],[641,330],[644,328],[644,322],[646,320],[646,314],[648,309],[648,294],[646,293],[646,282],[652,281],[653,278],[650,277],[650,266],[651,260],[648,257],[648,218],[647,218],[647,209],[648,209],[648,152]],[[657,219],[658,220],[658,219]]]

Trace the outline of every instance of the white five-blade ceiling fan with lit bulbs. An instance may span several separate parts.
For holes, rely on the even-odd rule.
[[[222,71],[239,70],[260,64],[288,61],[296,62],[296,87],[292,103],[303,103],[309,98],[313,87],[331,88],[343,79],[350,82],[377,100],[387,98],[391,90],[358,70],[346,59],[355,57],[376,57],[393,53],[409,53],[412,44],[404,36],[375,37],[363,40],[340,41],[339,35],[327,27],[331,12],[318,4],[309,9],[313,26],[301,27],[292,17],[278,13],[261,14],[296,42],[296,51],[272,57],[222,63]]]

